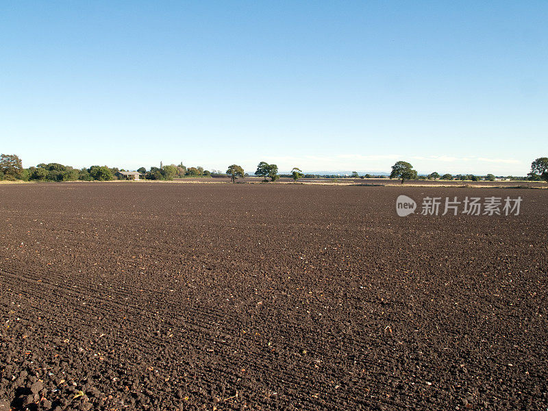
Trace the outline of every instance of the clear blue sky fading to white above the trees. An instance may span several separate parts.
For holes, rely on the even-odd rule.
[[[24,166],[526,175],[548,1],[1,1],[0,150]]]

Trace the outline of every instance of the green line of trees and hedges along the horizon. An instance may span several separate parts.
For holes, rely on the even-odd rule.
[[[108,166],[90,166],[89,168],[74,169],[71,166],[65,166],[59,163],[40,163],[37,166],[32,166],[27,169],[23,168],[21,158],[15,154],[1,154],[0,155],[0,179],[8,180],[23,180],[23,181],[46,181],[46,182],[71,182],[71,181],[110,181],[113,179],[125,179],[126,177],[121,174],[124,169],[118,169],[116,167]],[[224,177],[228,176],[234,183],[238,178],[245,178],[248,176],[244,169],[238,164],[232,164],[227,168],[225,173],[220,171],[208,171],[204,170],[201,166],[186,167],[181,162],[179,165],[169,164],[164,166],[160,162],[160,166],[151,166],[150,169],[140,167],[138,170],[141,177],[150,180],[173,180],[174,178],[184,177]],[[295,182],[301,178],[339,178],[340,175],[316,175],[305,174],[298,167],[294,167],[290,174],[279,175],[278,166],[276,164],[269,164],[267,162],[260,162],[254,173],[257,177],[262,177],[264,182],[275,182],[280,177],[290,177]],[[350,178],[373,178],[373,177],[385,177],[385,176],[372,176],[369,174],[360,176],[357,171],[353,171]],[[496,177],[493,174],[487,175],[473,175],[473,174],[444,174],[440,175],[437,172],[430,173],[429,175],[419,176],[416,170],[409,162],[398,161],[392,166],[392,172],[388,176],[390,179],[401,179],[401,184],[406,180],[411,179],[443,179],[443,180],[471,180],[471,181],[495,181]],[[527,174],[527,177],[512,177],[508,176],[506,179],[518,180],[528,179],[530,181],[544,180],[548,182],[548,158],[537,158],[531,164],[531,172]]]

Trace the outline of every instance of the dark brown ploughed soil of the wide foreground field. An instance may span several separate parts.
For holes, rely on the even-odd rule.
[[[400,218],[400,194],[523,203]],[[548,407],[548,190],[72,183],[0,198],[0,411]]]

